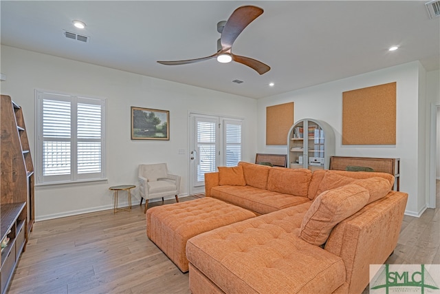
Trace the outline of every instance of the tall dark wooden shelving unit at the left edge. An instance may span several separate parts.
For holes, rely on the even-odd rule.
[[[8,290],[20,255],[34,224],[34,165],[23,110],[10,96],[1,95],[1,293]]]

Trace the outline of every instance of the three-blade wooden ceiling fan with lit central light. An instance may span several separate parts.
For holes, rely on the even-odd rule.
[[[188,63],[196,63],[199,61],[206,61],[217,57],[219,62],[235,61],[253,70],[256,70],[259,74],[264,74],[270,70],[270,66],[257,61],[250,57],[239,56],[232,53],[232,44],[239,34],[250,24],[254,19],[263,14],[263,9],[256,6],[241,6],[232,12],[228,21],[220,21],[217,23],[217,31],[221,33],[219,41],[217,41],[217,52],[206,57],[199,59],[187,59],[181,61],[157,61],[164,65],[181,65]]]

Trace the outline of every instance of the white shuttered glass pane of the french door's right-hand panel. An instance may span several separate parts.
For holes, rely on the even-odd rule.
[[[223,120],[225,165],[235,167],[241,160],[241,120]]]

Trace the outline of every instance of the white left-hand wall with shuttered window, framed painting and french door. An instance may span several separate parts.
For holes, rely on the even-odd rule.
[[[34,146],[34,90],[107,98],[108,182],[67,187],[38,187],[36,220],[113,207],[110,186],[137,184],[140,163],[167,162],[182,176],[181,194],[188,193],[188,112],[245,118],[243,160],[256,153],[256,101],[222,92],[131,74],[107,67],[1,46],[1,94],[23,107],[31,147]],[[234,105],[234,107],[231,107]],[[131,106],[170,111],[170,140],[131,140]],[[178,154],[184,149],[186,154]],[[31,150],[33,158],[35,158]],[[121,196],[120,199],[126,199]],[[138,200],[134,199],[136,205]]]

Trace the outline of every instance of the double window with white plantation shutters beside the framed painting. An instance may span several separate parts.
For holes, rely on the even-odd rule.
[[[36,91],[36,182],[105,177],[105,100]]]

